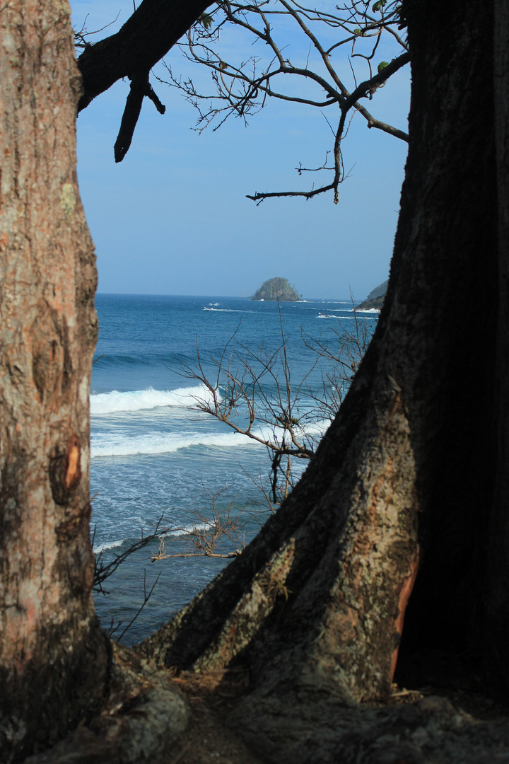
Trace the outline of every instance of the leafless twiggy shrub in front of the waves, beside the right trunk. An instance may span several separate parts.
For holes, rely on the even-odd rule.
[[[281,343],[275,351],[263,345],[256,350],[237,339],[238,329],[219,357],[211,355],[205,369],[198,341],[195,364],[181,364],[176,371],[186,379],[198,381],[208,395],[196,397],[196,410],[214,416],[238,435],[244,435],[267,448],[270,458],[271,500],[278,504],[292,487],[292,459],[309,460],[320,435],[311,434],[319,422],[332,421],[339,410],[346,387],[366,351],[371,332],[359,318],[353,304],[353,331],[333,330],[326,343],[301,332],[304,345],[316,354],[307,373],[292,382],[281,310]],[[311,390],[308,379],[327,361],[322,371],[321,392]],[[303,400],[305,403],[303,404]],[[279,490],[282,480],[284,489]]]

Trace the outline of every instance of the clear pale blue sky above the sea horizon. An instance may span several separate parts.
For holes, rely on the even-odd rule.
[[[335,4],[321,5],[332,11]],[[71,7],[75,28],[87,15],[92,30],[120,14],[99,37],[116,31],[132,12],[127,0],[74,0]],[[230,52],[246,44],[235,32],[224,41]],[[297,50],[292,31],[288,44]],[[342,66],[348,66],[342,55]],[[381,50],[381,59],[390,56]],[[188,73],[178,49],[167,60],[174,72]],[[208,73],[193,75],[208,86]],[[323,163],[330,147],[324,115],[272,102],[247,128],[229,119],[215,132],[198,134],[192,105],[151,81],[166,114],[145,99],[122,163],[114,163],[113,145],[129,83],[117,83],[78,118],[79,186],[98,255],[98,291],[247,296],[263,280],[283,276],[304,297],[342,298],[352,290],[362,299],[387,278],[406,144],[368,130],[357,115],[343,144],[351,173],[340,186],[338,205],[329,193],[256,206],[247,193],[311,186],[314,173],[299,177],[295,167]],[[406,129],[409,90],[406,69],[375,94],[369,108]]]

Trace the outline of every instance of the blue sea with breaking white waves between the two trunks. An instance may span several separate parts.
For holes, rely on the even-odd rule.
[[[277,400],[285,393],[282,373],[282,336],[295,398],[292,416],[302,436],[316,442],[327,426],[317,412],[314,396],[330,373],[327,358],[317,355],[306,337],[320,338],[333,351],[338,330],[356,329],[351,303],[252,302],[230,297],[96,296],[99,340],[92,367],[91,495],[93,545],[101,562],[111,562],[134,542],[154,532],[160,518],[169,528],[166,551],[188,551],[185,530],[207,527],[213,503],[219,513],[240,513],[248,540],[261,517],[253,507],[264,503],[258,483],[268,486],[270,459],[266,448],[233,432],[223,422],[197,410],[211,392],[199,380],[185,377],[198,369],[198,353],[205,376],[217,379],[217,359],[223,355],[231,371],[242,369],[246,358],[257,373],[257,358],[276,353],[259,380],[258,399]],[[377,315],[360,314],[369,331]],[[335,331],[336,330],[336,331]],[[304,339],[303,339],[304,333]],[[232,339],[233,338],[233,339]],[[305,341],[304,341],[305,340]],[[279,352],[278,352],[279,351]],[[223,378],[218,394],[228,395]],[[246,380],[246,384],[249,380]],[[249,389],[249,386],[248,386]],[[239,406],[241,422],[245,407]],[[263,406],[258,405],[263,416]],[[267,432],[256,419],[255,432]],[[295,475],[305,467],[295,464]],[[247,508],[247,510],[245,509]],[[97,594],[95,605],[103,625],[125,626],[143,604],[144,592],[159,581],[150,601],[123,641],[135,643],[169,620],[217,575],[222,558],[173,557],[152,562],[159,541],[130,555],[104,584],[107,596]],[[227,541],[224,552],[239,543]]]

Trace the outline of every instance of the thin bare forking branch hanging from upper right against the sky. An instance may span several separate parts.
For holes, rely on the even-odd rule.
[[[337,6],[337,12],[333,14],[318,11],[316,8],[306,8],[295,0],[254,0],[249,4],[221,0],[217,3],[217,11],[214,11],[213,16],[214,25],[211,28],[190,29],[187,43],[181,47],[189,61],[211,70],[215,92],[200,92],[192,79],[182,81],[172,74],[171,67],[167,67],[170,74],[169,84],[180,89],[198,110],[196,129],[201,131],[212,123],[215,125],[214,129],[217,129],[230,116],[247,121],[247,118],[263,108],[269,99],[312,105],[315,108],[336,106],[339,110],[337,127],[332,128],[334,143],[330,153],[333,155],[333,167],[324,166],[314,170],[332,170],[332,183],[324,183],[316,188],[313,186],[306,191],[285,190],[248,194],[248,199],[257,203],[262,199],[282,196],[312,199],[317,194],[332,191],[333,201],[337,203],[338,186],[345,180],[342,142],[348,134],[351,121],[348,118],[349,113],[361,115],[369,128],[377,128],[395,138],[408,141],[408,135],[404,131],[380,121],[359,103],[359,100],[364,98],[372,99],[376,90],[384,86],[410,58],[405,41],[395,31],[400,21],[395,3],[370,13],[368,3],[350,0],[342,7]],[[294,63],[292,54],[288,56],[287,48],[276,42],[276,36],[282,37],[286,31],[286,27],[280,26],[280,20],[297,24],[306,49],[304,67],[298,66],[298,62]],[[241,33],[251,35],[255,43],[262,42],[263,51],[260,52],[263,54],[255,54],[240,62],[228,60],[221,50],[221,40],[232,25],[237,26]],[[335,32],[340,39],[331,43],[330,34]],[[390,63],[382,61],[374,67],[375,57],[384,36],[394,48],[395,57]],[[323,42],[321,37],[324,38]],[[352,92],[346,86],[343,74],[340,74],[340,62],[333,60],[333,54],[346,43],[352,45],[349,59],[353,76]],[[264,54],[265,50],[269,51],[268,57]],[[311,53],[314,53],[313,60]],[[367,67],[367,78],[366,73],[362,79],[358,76],[361,63],[357,64],[355,70],[353,59],[359,60],[362,66]],[[308,89],[288,89],[288,83],[292,80],[308,83]],[[358,84],[359,80],[361,84]],[[314,88],[318,89],[317,94]],[[301,174],[302,171],[305,170],[301,162],[298,173]]]

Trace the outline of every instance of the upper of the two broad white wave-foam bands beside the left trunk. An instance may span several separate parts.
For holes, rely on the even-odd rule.
[[[118,411],[141,411],[156,409],[159,406],[195,406],[197,400],[211,403],[211,393],[205,385],[195,387],[179,387],[177,390],[131,390],[120,393],[98,393],[90,396],[91,414],[111,414]]]

